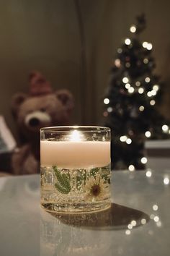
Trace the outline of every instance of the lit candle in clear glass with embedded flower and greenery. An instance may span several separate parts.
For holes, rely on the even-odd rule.
[[[50,212],[104,210],[110,201],[110,129],[40,129],[41,205]]]

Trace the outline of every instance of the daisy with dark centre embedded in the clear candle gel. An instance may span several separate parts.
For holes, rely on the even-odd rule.
[[[101,201],[108,197],[109,187],[105,180],[99,174],[96,177],[91,176],[84,185],[84,200]]]

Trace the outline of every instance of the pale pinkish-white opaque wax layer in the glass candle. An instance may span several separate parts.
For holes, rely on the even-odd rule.
[[[48,141],[40,142],[42,166],[59,168],[94,168],[110,163],[110,142]]]

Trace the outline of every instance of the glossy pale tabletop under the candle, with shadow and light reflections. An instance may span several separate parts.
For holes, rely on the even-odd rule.
[[[40,208],[39,175],[0,178],[0,255],[170,255],[170,171],[112,174],[111,210],[78,216]]]

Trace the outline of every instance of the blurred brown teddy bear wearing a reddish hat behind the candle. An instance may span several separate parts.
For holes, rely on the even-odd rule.
[[[64,89],[53,91],[40,72],[31,72],[29,84],[29,93],[12,98],[12,114],[22,140],[12,155],[16,175],[40,172],[40,128],[68,125],[73,109],[73,95]]]

